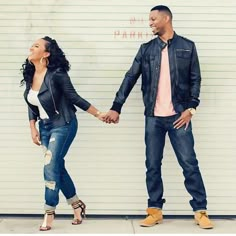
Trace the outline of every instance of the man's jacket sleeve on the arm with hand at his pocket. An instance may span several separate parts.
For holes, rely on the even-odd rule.
[[[188,107],[196,108],[200,103],[201,71],[195,44],[193,44],[190,71],[190,101]]]

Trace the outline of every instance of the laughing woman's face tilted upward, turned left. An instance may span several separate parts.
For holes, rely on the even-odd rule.
[[[46,58],[49,56],[49,52],[46,52],[46,43],[44,39],[38,39],[33,43],[33,45],[30,47],[30,53],[28,56],[28,60],[32,63],[39,62],[40,59]]]

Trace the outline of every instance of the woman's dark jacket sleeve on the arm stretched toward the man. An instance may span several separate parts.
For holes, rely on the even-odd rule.
[[[59,88],[71,104],[76,105],[84,111],[88,110],[91,104],[76,92],[71,79],[66,72],[57,72],[55,79]]]

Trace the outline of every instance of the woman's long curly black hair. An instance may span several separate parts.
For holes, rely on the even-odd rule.
[[[60,68],[64,71],[69,71],[70,63],[66,59],[62,49],[58,46],[57,41],[49,36],[45,36],[42,39],[46,41],[46,52],[50,53],[50,56],[48,57],[49,63],[47,65],[48,70]],[[30,63],[28,58],[22,64],[21,71],[23,73],[23,79],[20,81],[20,84],[23,85],[25,83],[32,83],[35,67],[32,63]]]

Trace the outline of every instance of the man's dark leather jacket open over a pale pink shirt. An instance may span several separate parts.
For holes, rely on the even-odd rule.
[[[141,90],[145,105],[144,114],[154,116],[160,76],[161,51],[166,46],[160,38],[141,45],[134,61],[125,74],[116,93],[111,110],[121,112],[129,93],[142,75]],[[194,42],[176,33],[168,41],[172,103],[176,112],[199,105],[201,74]]]

